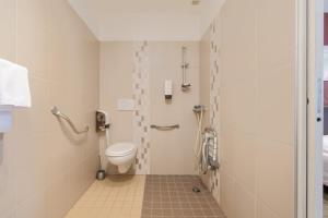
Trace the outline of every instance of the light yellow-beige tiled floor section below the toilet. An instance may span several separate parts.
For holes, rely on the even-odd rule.
[[[144,175],[95,181],[66,218],[140,218],[144,181]]]

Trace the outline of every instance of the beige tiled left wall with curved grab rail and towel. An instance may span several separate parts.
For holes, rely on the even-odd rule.
[[[61,218],[97,168],[98,43],[66,0],[0,0],[0,58],[30,69],[33,104],[0,136],[0,217]]]

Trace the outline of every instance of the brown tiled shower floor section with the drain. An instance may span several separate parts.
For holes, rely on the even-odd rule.
[[[192,192],[194,186],[199,193]],[[223,218],[211,193],[198,177],[148,175],[142,218]]]

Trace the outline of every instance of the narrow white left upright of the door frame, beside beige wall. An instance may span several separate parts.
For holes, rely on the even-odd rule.
[[[307,218],[307,0],[295,3],[295,217]]]

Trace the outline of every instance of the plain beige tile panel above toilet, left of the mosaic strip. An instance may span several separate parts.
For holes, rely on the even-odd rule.
[[[133,43],[101,44],[99,108],[109,117],[110,143],[132,140],[132,112],[116,107],[119,98],[132,98],[132,53]]]

